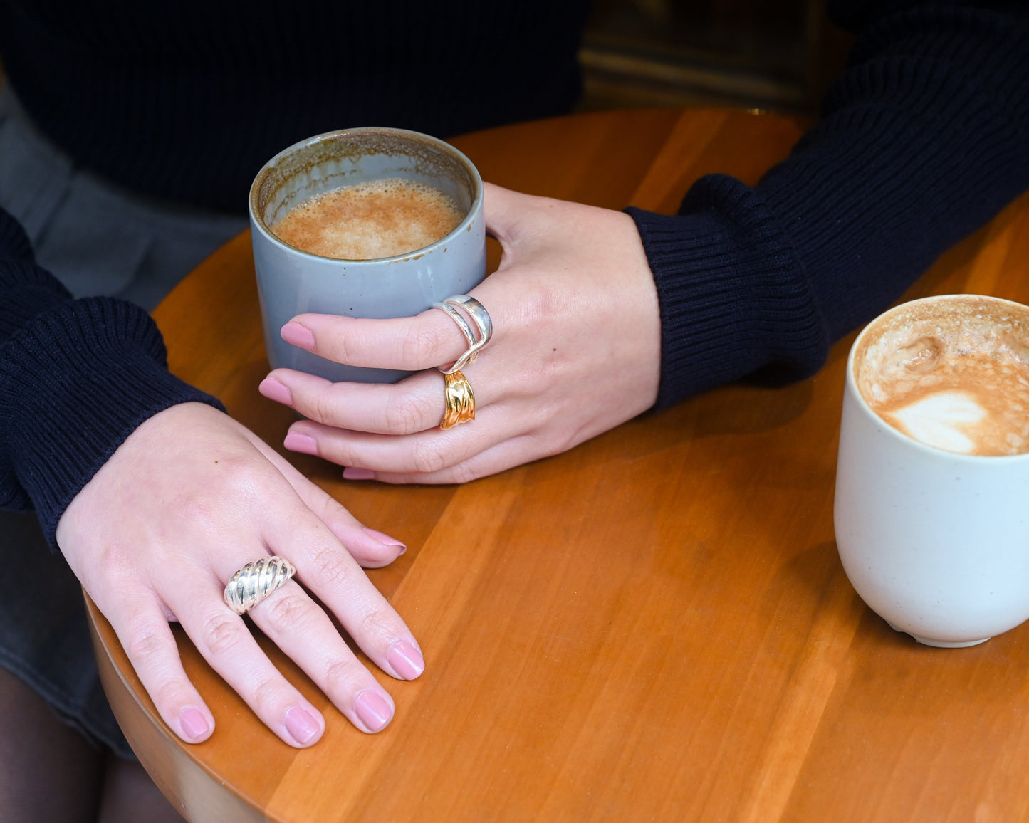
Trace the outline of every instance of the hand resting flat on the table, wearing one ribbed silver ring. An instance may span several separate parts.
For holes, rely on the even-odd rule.
[[[383,671],[409,680],[424,668],[410,630],[359,566],[384,566],[404,546],[362,528],[211,406],[183,403],[143,423],[72,500],[57,537],[161,716],[189,743],[210,737],[214,718],[182,669],[170,620],[283,741],[310,746],[325,729],[222,600],[234,572],[263,557],[292,563]],[[389,693],[295,580],[249,614],[354,725],[389,723]]]

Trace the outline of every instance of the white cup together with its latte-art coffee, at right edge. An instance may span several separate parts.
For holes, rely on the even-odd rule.
[[[864,602],[931,646],[1029,618],[1029,307],[966,294],[870,323],[847,361],[835,526]]]

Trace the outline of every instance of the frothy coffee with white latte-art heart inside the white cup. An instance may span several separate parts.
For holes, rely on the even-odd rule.
[[[899,307],[862,335],[854,378],[876,414],[916,440],[1029,452],[1029,308],[970,295]]]

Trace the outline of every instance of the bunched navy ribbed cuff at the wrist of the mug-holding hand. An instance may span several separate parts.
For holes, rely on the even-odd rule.
[[[816,371],[824,322],[775,218],[749,187],[709,175],[680,214],[626,210],[658,287],[663,408],[758,369],[781,379]]]

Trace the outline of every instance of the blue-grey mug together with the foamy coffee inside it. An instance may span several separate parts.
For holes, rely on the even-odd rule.
[[[390,229],[413,216],[438,217],[443,202],[443,224],[431,217],[422,234],[409,237]],[[335,234],[327,240],[345,245],[316,246],[308,229],[329,227],[338,207],[353,211],[355,204],[357,216],[342,232],[321,231],[317,240]],[[309,225],[284,241],[276,227],[282,230],[292,214]],[[250,229],[269,363],[333,382],[394,383],[409,372],[336,363],[290,346],[279,330],[292,317],[413,317],[486,277],[478,172],[449,143],[418,132],[346,129],[283,149],[250,187]]]

